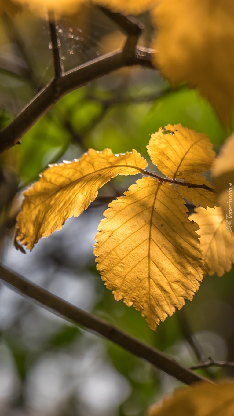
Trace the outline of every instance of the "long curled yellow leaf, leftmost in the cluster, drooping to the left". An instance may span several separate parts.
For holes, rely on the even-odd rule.
[[[110,149],[90,149],[78,160],[52,165],[23,194],[17,241],[32,249],[41,237],[60,230],[67,218],[80,215],[111,178],[136,175],[146,166],[136,150],[114,155]]]

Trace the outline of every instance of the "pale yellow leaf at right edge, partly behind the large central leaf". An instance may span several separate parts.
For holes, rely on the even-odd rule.
[[[200,227],[197,233],[204,253],[205,270],[209,275],[217,273],[222,276],[231,270],[234,262],[232,222],[227,222],[219,207],[195,208],[195,212],[190,218]]]

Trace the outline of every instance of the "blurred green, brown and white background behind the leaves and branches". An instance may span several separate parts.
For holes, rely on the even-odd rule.
[[[149,16],[140,43],[151,45]],[[57,22],[65,69],[121,47],[124,35],[97,8]],[[27,11],[0,21],[0,127],[52,77],[47,22]],[[0,156],[0,249],[4,265],[74,305],[117,325],[187,366],[234,360],[233,271],[206,276],[193,302],[153,332],[141,314],[116,302],[95,268],[92,245],[108,203],[136,178],[115,178],[79,218],[26,254],[13,247],[22,191],[48,163],[88,148],[137,149],[147,159],[150,134],[181,123],[209,136],[219,151],[225,131],[197,92],[177,89],[150,69],[122,69],[64,97]],[[189,206],[192,210],[192,207]],[[219,378],[229,369],[200,371]],[[0,285],[0,415],[140,416],[181,384],[120,347],[75,327]]]

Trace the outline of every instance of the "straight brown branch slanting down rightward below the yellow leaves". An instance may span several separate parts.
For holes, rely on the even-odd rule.
[[[88,312],[82,311],[42,287],[35,285],[35,283],[8,270],[2,265],[0,265],[0,279],[17,292],[20,292],[20,294],[39,302],[40,305],[43,305],[47,309],[49,308],[49,310],[55,314],[62,315],[65,319],[102,335],[137,357],[145,359],[147,362],[170,376],[182,381],[182,383],[191,384],[196,381],[207,380],[159,350],[143,344],[138,339],[131,337],[114,325],[109,324]]]

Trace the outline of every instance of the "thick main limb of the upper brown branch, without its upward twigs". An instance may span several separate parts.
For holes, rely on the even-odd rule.
[[[94,79],[110,74],[119,68],[134,65],[153,68],[151,61],[145,60],[144,57],[138,58],[137,55],[131,63],[126,62],[122,50],[118,50],[92,59],[65,72],[62,77],[53,79],[5,129],[0,131],[0,154],[20,143],[22,136],[68,92],[83,87]]]

